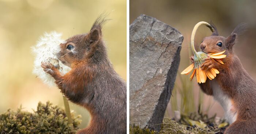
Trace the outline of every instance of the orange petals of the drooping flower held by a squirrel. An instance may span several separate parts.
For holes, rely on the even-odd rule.
[[[219,52],[216,54],[207,54],[208,57],[216,60],[217,62],[224,64],[222,62],[222,59],[226,57],[226,55],[223,55],[225,51]],[[190,66],[188,66],[184,71],[181,72],[181,74],[188,75],[192,70],[193,73],[190,76],[190,79],[192,80],[193,77],[196,75],[196,80],[198,83],[205,83],[206,79],[209,78],[210,80],[214,79],[217,74],[219,74],[219,71],[215,68],[210,68],[209,70],[202,70],[201,64],[199,64],[197,67],[195,67],[195,63],[192,63]]]

